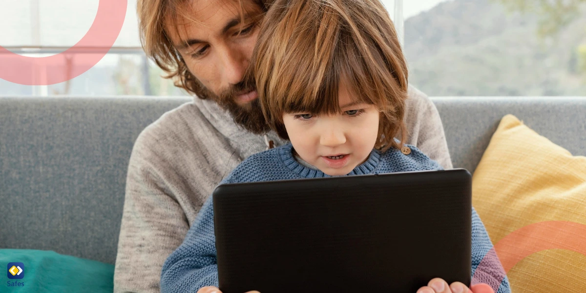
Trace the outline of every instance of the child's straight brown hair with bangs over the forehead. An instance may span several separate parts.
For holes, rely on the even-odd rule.
[[[339,85],[347,82],[357,100],[380,112],[374,147],[403,146],[407,64],[379,0],[276,0],[261,26],[251,70],[279,136],[288,139],[284,113],[340,113]]]

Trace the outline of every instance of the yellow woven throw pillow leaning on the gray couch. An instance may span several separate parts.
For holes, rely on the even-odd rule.
[[[513,292],[586,292],[586,157],[507,115],[472,177],[472,205]]]

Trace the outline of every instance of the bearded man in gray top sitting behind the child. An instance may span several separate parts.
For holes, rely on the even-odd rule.
[[[216,185],[269,141],[285,143],[267,133],[254,82],[243,81],[266,2],[138,0],[145,52],[196,97],[148,126],[132,150],[115,292],[159,292],[163,262]],[[414,88],[405,118],[407,143],[452,168],[437,109]]]

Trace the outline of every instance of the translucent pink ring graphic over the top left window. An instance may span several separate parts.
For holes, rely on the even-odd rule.
[[[47,57],[26,57],[0,46],[0,78],[22,85],[59,84],[94,67],[114,45],[126,16],[127,0],[100,0],[94,22],[77,44]],[[84,53],[85,52],[85,53]],[[67,63],[74,66],[66,66]]]

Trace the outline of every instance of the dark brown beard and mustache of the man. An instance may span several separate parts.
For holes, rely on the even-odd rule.
[[[270,130],[263,116],[260,99],[256,98],[244,105],[236,103],[236,94],[242,94],[246,92],[244,91],[245,89],[248,91],[248,89],[254,88],[254,86],[247,86],[247,84],[254,83],[240,82],[239,84],[231,85],[230,88],[222,91],[220,95],[214,94],[199,80],[197,83],[199,84],[199,90],[195,94],[200,98],[212,99],[212,101],[230,113],[236,124],[255,134],[263,134]]]

